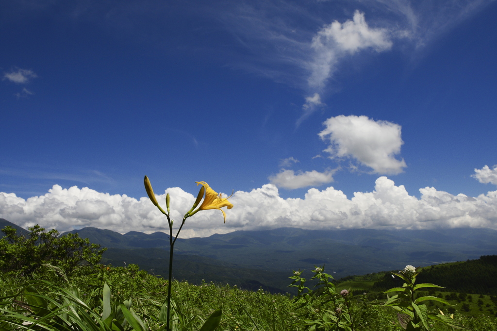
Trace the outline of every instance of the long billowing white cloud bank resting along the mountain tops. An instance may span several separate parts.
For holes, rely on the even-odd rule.
[[[475,169],[488,178],[489,167]],[[495,166],[492,175],[497,173]],[[486,181],[487,179],[483,179]],[[187,220],[182,238],[207,237],[236,230],[261,230],[280,227],[302,229],[437,229],[491,228],[497,230],[497,191],[478,197],[452,195],[434,187],[419,189],[418,199],[403,185],[379,177],[372,192],[355,192],[348,198],[340,190],[311,188],[301,198],[283,199],[274,184],[250,192],[237,191],[230,199],[234,208],[227,212],[226,224],[217,210],[202,211]],[[195,197],[179,187],[158,195],[171,196],[172,219],[179,220]],[[23,228],[39,224],[45,228],[71,231],[84,227],[109,229],[120,233],[165,231],[166,219],[148,197],[135,199],[110,195],[87,187],[63,189],[54,185],[48,193],[28,199],[14,193],[0,193],[0,218]]]

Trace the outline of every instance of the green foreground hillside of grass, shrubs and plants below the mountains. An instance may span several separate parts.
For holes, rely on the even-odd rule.
[[[169,283],[136,264],[100,264],[105,248],[78,235],[29,230],[2,230],[1,331],[497,330],[495,255],[341,280],[315,266],[288,275],[290,295]]]

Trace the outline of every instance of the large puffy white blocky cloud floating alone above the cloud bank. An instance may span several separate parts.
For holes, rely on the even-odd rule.
[[[323,124],[319,136],[331,143],[325,150],[331,158],[352,158],[382,174],[398,174],[407,166],[395,158],[404,144],[400,125],[354,115],[331,117]]]

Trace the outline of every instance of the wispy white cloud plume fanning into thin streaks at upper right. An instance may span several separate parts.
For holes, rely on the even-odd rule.
[[[342,60],[367,50],[375,56],[396,44],[419,56],[426,45],[492,2],[333,0],[279,6],[270,0],[239,1],[221,9],[226,15],[220,20],[244,49],[233,66],[303,91],[299,126],[325,105]]]

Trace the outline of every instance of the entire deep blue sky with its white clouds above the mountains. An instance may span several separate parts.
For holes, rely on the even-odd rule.
[[[197,224],[189,236],[497,228],[495,17],[493,0],[4,1],[0,217],[63,230],[160,230],[159,218],[146,220],[160,215],[117,211],[123,200],[142,201],[147,174],[157,194],[180,188],[185,208],[195,181],[236,191],[229,228]],[[407,217],[419,206],[380,198],[382,187],[417,204],[431,187],[427,208],[438,212]],[[243,196],[256,208],[264,190],[309,213],[294,219],[297,207],[274,204],[248,211]],[[321,208],[309,190],[341,191],[353,205],[340,211],[348,216],[337,221],[341,207],[330,203],[306,223]],[[389,207],[366,211],[354,192]],[[441,213],[440,196],[458,194],[485,202]],[[392,206],[405,223],[378,221]]]

